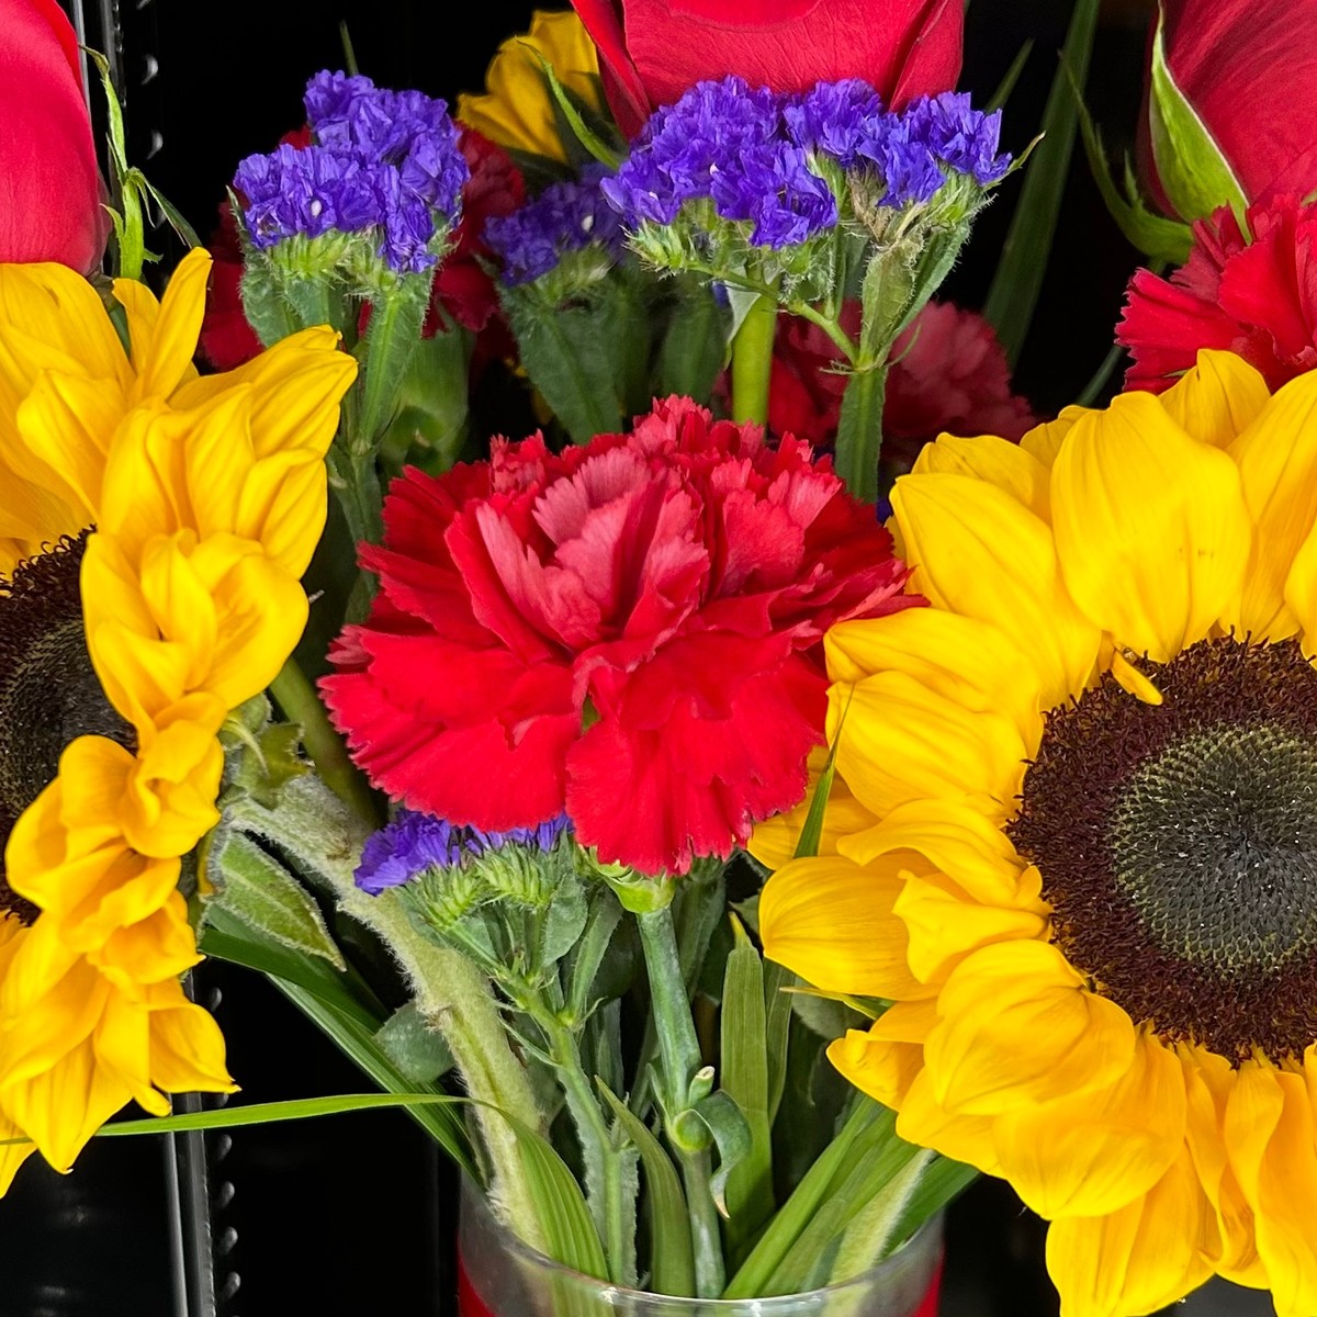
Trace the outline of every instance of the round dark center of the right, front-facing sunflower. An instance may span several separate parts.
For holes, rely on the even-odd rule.
[[[1009,832],[1056,940],[1163,1035],[1242,1059],[1317,1040],[1317,672],[1200,641],[1052,710]]]

